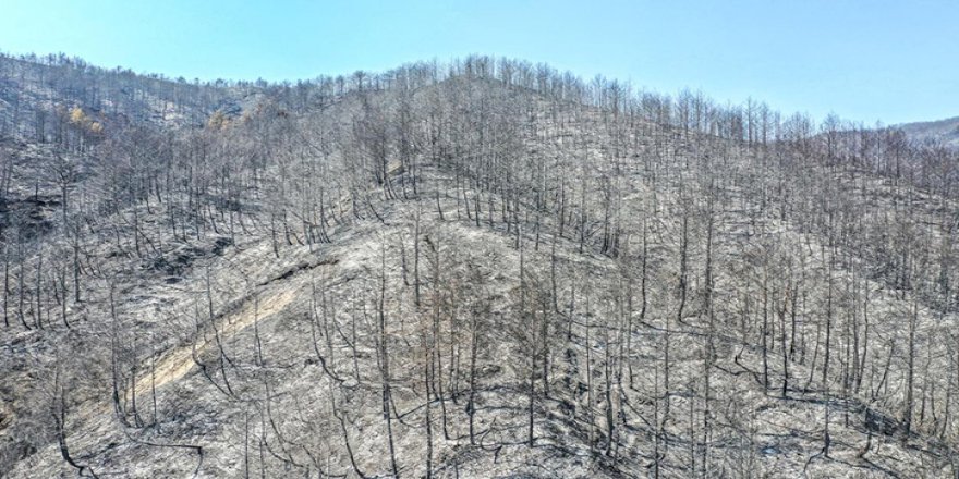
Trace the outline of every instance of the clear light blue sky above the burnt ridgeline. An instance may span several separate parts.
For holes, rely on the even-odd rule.
[[[956,0],[0,0],[0,50],[251,81],[483,53],[816,119],[959,115]]]

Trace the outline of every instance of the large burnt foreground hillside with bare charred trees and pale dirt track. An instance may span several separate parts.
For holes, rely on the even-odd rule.
[[[8,116],[0,475],[959,470],[955,152],[486,57],[204,88]]]

